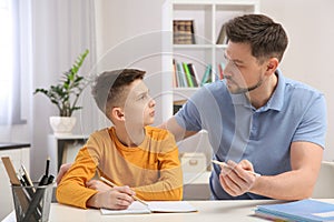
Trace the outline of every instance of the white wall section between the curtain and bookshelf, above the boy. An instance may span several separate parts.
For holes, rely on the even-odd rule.
[[[138,68],[146,71],[150,95],[157,101],[156,123],[161,122],[161,4],[163,0],[99,0],[97,14],[97,73]]]

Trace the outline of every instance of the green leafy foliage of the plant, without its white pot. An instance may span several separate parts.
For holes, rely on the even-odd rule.
[[[78,71],[88,53],[89,50],[86,49],[77,58],[70,70],[63,73],[58,84],[50,85],[48,90],[39,88],[33,92],[33,94],[41,92],[47,95],[51,103],[57,105],[60,117],[71,117],[73,111],[82,109],[82,107],[77,107],[77,102],[87,87],[87,80],[79,75]]]

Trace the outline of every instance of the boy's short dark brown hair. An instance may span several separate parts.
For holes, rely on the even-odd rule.
[[[125,88],[135,80],[143,80],[145,73],[145,71],[137,69],[122,69],[102,72],[95,79],[91,94],[98,108],[108,119],[110,119],[109,113],[112,108],[121,107],[126,100],[127,91]]]

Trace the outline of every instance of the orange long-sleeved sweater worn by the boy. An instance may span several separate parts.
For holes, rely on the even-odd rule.
[[[86,182],[96,172],[118,185],[129,185],[144,200],[181,200],[183,173],[174,137],[153,127],[145,130],[146,138],[137,148],[120,143],[115,128],[92,133],[58,185],[58,202],[86,209],[97,193]]]

